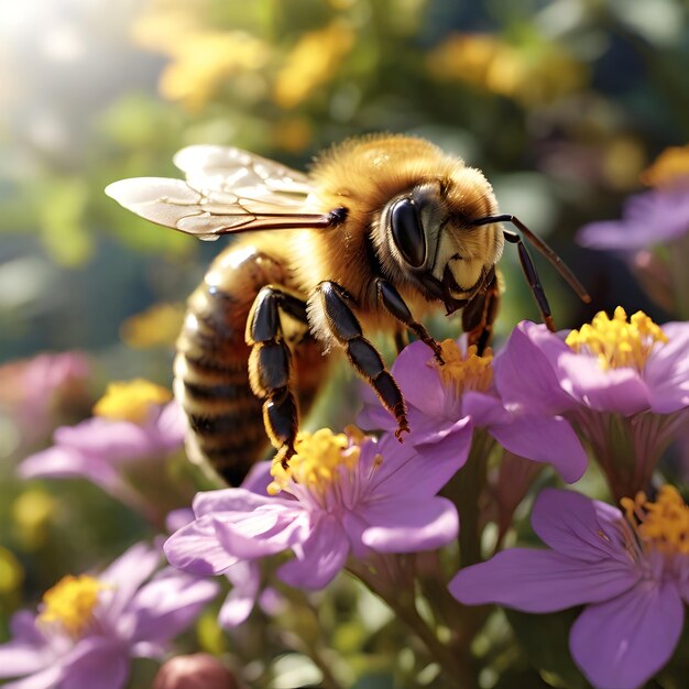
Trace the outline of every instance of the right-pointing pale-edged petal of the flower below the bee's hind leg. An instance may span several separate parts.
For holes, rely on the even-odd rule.
[[[394,497],[368,507],[363,518],[370,526],[362,543],[380,553],[433,550],[457,538],[459,517],[445,497],[424,502]]]

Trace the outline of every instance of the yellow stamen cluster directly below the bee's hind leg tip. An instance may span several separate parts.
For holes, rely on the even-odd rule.
[[[341,468],[354,469],[359,461],[363,434],[353,428],[348,431],[349,437],[343,433],[336,435],[329,428],[313,434],[299,433],[294,444],[296,455],[289,459],[289,467],[283,469],[280,462],[273,464],[273,482],[267,492],[275,495],[294,481],[307,486],[311,493],[324,495],[339,480]]]

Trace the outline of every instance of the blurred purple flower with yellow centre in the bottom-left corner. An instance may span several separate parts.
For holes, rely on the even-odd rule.
[[[218,590],[171,567],[154,575],[160,561],[157,548],[138,544],[98,576],[65,577],[37,615],[14,615],[0,677],[20,679],[4,687],[124,687],[131,659],[162,656]]]

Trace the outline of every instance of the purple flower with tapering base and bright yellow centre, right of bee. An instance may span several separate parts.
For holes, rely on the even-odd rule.
[[[617,307],[580,330],[520,324],[495,361],[513,409],[561,414],[587,440],[621,497],[645,488],[689,417],[689,324],[661,328]]]

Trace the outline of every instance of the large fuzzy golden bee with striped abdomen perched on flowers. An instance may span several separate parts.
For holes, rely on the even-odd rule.
[[[319,155],[308,174],[217,145],[183,149],[174,162],[185,181],[122,179],[106,193],[199,239],[248,233],[217,256],[189,297],[174,363],[192,452],[230,484],[266,450],[266,435],[287,467],[329,350],[342,350],[373,387],[401,439],[409,430],[405,402],[367,335],[389,331],[400,348],[411,332],[441,362],[422,317],[461,309],[469,343],[482,352],[505,241],[517,247],[548,328],[550,307],[522,238],[589,300],[540,239],[499,212],[479,169],[423,139],[352,139]]]

